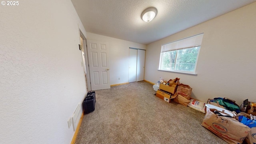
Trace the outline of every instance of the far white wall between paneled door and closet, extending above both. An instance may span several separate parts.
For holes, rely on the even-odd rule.
[[[110,84],[129,82],[129,47],[146,50],[146,45],[89,32],[87,36],[88,40],[99,40],[109,44]]]

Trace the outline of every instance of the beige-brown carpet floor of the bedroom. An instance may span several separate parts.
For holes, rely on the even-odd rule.
[[[75,144],[226,144],[201,126],[204,113],[156,97],[152,84],[96,90]]]

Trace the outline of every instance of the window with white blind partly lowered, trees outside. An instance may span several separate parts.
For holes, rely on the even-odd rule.
[[[163,44],[159,70],[194,74],[204,34]]]

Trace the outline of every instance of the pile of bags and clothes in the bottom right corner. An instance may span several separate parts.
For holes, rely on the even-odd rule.
[[[229,98],[209,99],[207,103],[202,126],[228,143],[256,144],[256,103],[247,99],[239,107]]]

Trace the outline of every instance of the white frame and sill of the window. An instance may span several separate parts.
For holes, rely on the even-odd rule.
[[[201,34],[197,34],[197,35],[190,36],[190,37],[187,37],[187,38],[192,38],[192,37],[195,37],[195,36],[198,36],[198,35],[201,35]],[[203,38],[203,35],[204,35],[204,33],[202,33],[202,38]],[[197,66],[198,57],[199,57],[199,53],[200,53],[200,49],[201,49],[201,45],[202,45],[202,40],[201,40],[201,42],[200,42],[200,45],[195,45],[195,46],[189,46],[189,47],[185,47],[185,48],[177,48],[177,49],[173,49],[173,50],[164,51],[164,52],[176,51],[175,62],[174,62],[174,70],[162,70],[162,69],[161,69],[162,54],[164,53],[164,52],[162,52],[162,51],[163,51],[163,46],[166,46],[166,45],[168,45],[168,44],[172,44],[172,43],[174,43],[174,42],[178,42],[178,41],[181,41],[181,40],[185,40],[185,39],[187,39],[187,38],[183,38],[183,39],[180,39],[180,40],[176,40],[176,41],[173,41],[173,42],[168,42],[168,43],[166,43],[166,44],[162,44],[162,46],[161,46],[161,52],[160,52],[160,60],[159,60],[158,70],[160,70],[160,71],[167,71],[167,72],[175,72],[175,73],[183,73],[183,74],[197,75],[197,74],[196,74],[196,66]],[[197,56],[196,56],[196,62],[195,62],[194,71],[175,70],[175,68],[176,68],[176,62],[177,62],[177,57],[178,57],[178,51],[179,51],[179,50],[183,50],[183,49],[196,48],[196,47],[199,47],[199,50],[198,50],[198,54],[197,54]],[[171,64],[171,63],[170,63],[170,64]]]

